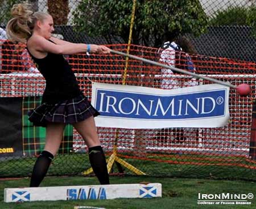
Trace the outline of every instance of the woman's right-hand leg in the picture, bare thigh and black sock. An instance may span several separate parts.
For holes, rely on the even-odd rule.
[[[108,168],[106,158],[102,150],[100,139],[98,138],[94,117],[87,118],[84,121],[74,123],[73,126],[81,134],[86,145],[89,148],[89,160],[93,172],[96,174],[100,184],[109,184]]]

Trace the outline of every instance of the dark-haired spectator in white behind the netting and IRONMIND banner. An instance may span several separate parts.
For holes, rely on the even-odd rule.
[[[196,72],[192,58],[189,56],[189,54],[196,54],[196,49],[187,38],[180,36],[175,40],[166,41],[164,42],[162,49],[159,62],[190,72]],[[179,72],[170,69],[161,69],[161,72],[163,77],[161,87],[163,89],[175,89],[198,85],[196,78],[186,78],[185,76],[184,78],[175,78],[174,75],[179,74]],[[187,129],[187,132],[191,132],[191,129]],[[184,129],[163,129],[157,134],[156,138],[160,138],[160,142],[163,143],[170,133],[174,134],[175,142],[184,142]]]

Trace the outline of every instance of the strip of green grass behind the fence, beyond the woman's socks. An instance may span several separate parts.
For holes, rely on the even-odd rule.
[[[245,157],[154,153],[142,156],[143,159],[124,153],[120,157],[148,176],[256,181],[256,162]],[[35,160],[35,157],[24,157],[0,161],[1,177],[30,176]],[[48,174],[81,175],[88,168],[90,163],[86,154],[59,155],[53,160]],[[114,172],[117,172],[116,168]],[[134,175],[128,169],[125,173]]]

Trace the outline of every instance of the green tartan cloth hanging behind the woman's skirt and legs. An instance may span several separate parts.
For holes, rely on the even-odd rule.
[[[28,112],[40,105],[42,96],[23,97],[22,103],[22,142],[23,155],[39,155],[43,149],[46,139],[46,129],[34,126],[28,120]],[[63,140],[60,144],[59,153],[69,153],[73,149],[73,126],[67,125],[64,130]]]

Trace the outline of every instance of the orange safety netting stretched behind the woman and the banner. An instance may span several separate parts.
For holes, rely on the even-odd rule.
[[[109,47],[124,53],[127,49],[125,44]],[[162,50],[156,48],[138,45],[131,45],[130,49],[130,54],[156,62],[159,61],[161,52]],[[24,46],[10,44],[2,46],[1,56],[1,97],[42,95],[45,81],[36,70]],[[175,67],[186,69],[186,62],[182,57],[180,56],[179,60],[175,58]],[[255,147],[250,146],[250,143],[253,144],[251,141],[254,140],[251,139],[251,127],[256,65],[251,62],[199,54],[191,54],[191,58],[197,74],[230,82],[236,86],[242,83],[251,86],[252,92],[247,97],[241,97],[235,89],[230,89],[229,124],[218,128],[119,129],[118,131],[100,127],[98,134],[107,156],[112,155],[114,148],[114,152],[121,159],[129,161],[146,174],[158,176],[246,178],[247,169],[250,170],[250,174],[256,169]],[[91,82],[122,84],[125,81],[126,85],[153,88],[182,88],[210,83],[203,79],[191,80],[191,76],[181,74],[166,76],[161,67],[134,59],[129,59],[127,75],[124,77],[126,58],[116,54],[89,56],[75,54],[67,56],[67,59],[82,91],[89,99]],[[54,71],[54,69],[49,70]],[[175,82],[164,87],[163,80],[168,79]],[[73,133],[73,152],[84,152],[86,146],[80,135],[75,130]],[[160,165],[162,167],[158,168]],[[168,168],[166,165],[171,167]],[[237,169],[236,173],[230,172],[234,169]],[[133,168],[130,170],[131,173],[134,172]],[[129,172],[128,169],[127,173]],[[248,178],[255,179],[255,177]]]

